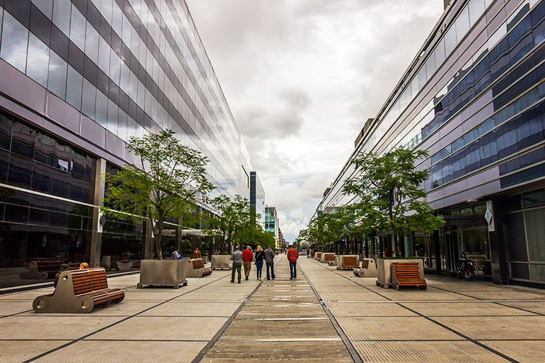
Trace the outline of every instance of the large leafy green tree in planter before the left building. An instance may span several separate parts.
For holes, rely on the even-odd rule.
[[[166,218],[194,218],[197,195],[214,188],[206,178],[208,158],[181,144],[174,131],[132,137],[127,149],[140,165],[127,164],[115,175],[105,175],[108,191],[101,208],[105,214],[148,218],[155,237],[155,253],[163,258],[161,237]]]

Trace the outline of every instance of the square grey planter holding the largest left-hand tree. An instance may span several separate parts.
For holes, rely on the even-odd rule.
[[[141,260],[140,261],[140,282],[136,288],[144,285],[152,286],[180,286],[187,285],[185,278],[186,265],[191,263],[188,260]]]

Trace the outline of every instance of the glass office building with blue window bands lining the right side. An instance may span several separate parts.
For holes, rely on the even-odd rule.
[[[319,210],[352,202],[358,152],[428,150],[423,187],[446,225],[406,236],[405,254],[452,272],[465,252],[495,283],[545,283],[544,39],[544,1],[451,1]]]

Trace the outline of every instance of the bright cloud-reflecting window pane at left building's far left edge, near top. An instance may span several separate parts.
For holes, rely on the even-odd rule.
[[[10,13],[4,12],[0,57],[23,73],[27,64],[28,39],[29,30]]]

